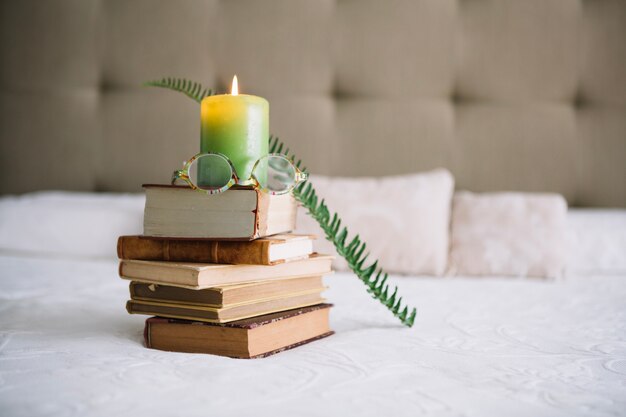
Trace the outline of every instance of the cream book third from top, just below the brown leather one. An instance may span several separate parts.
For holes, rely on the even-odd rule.
[[[313,254],[306,259],[276,265],[227,265],[190,262],[137,261],[122,259],[123,279],[202,289],[217,285],[242,284],[285,278],[325,275],[333,257]]]

